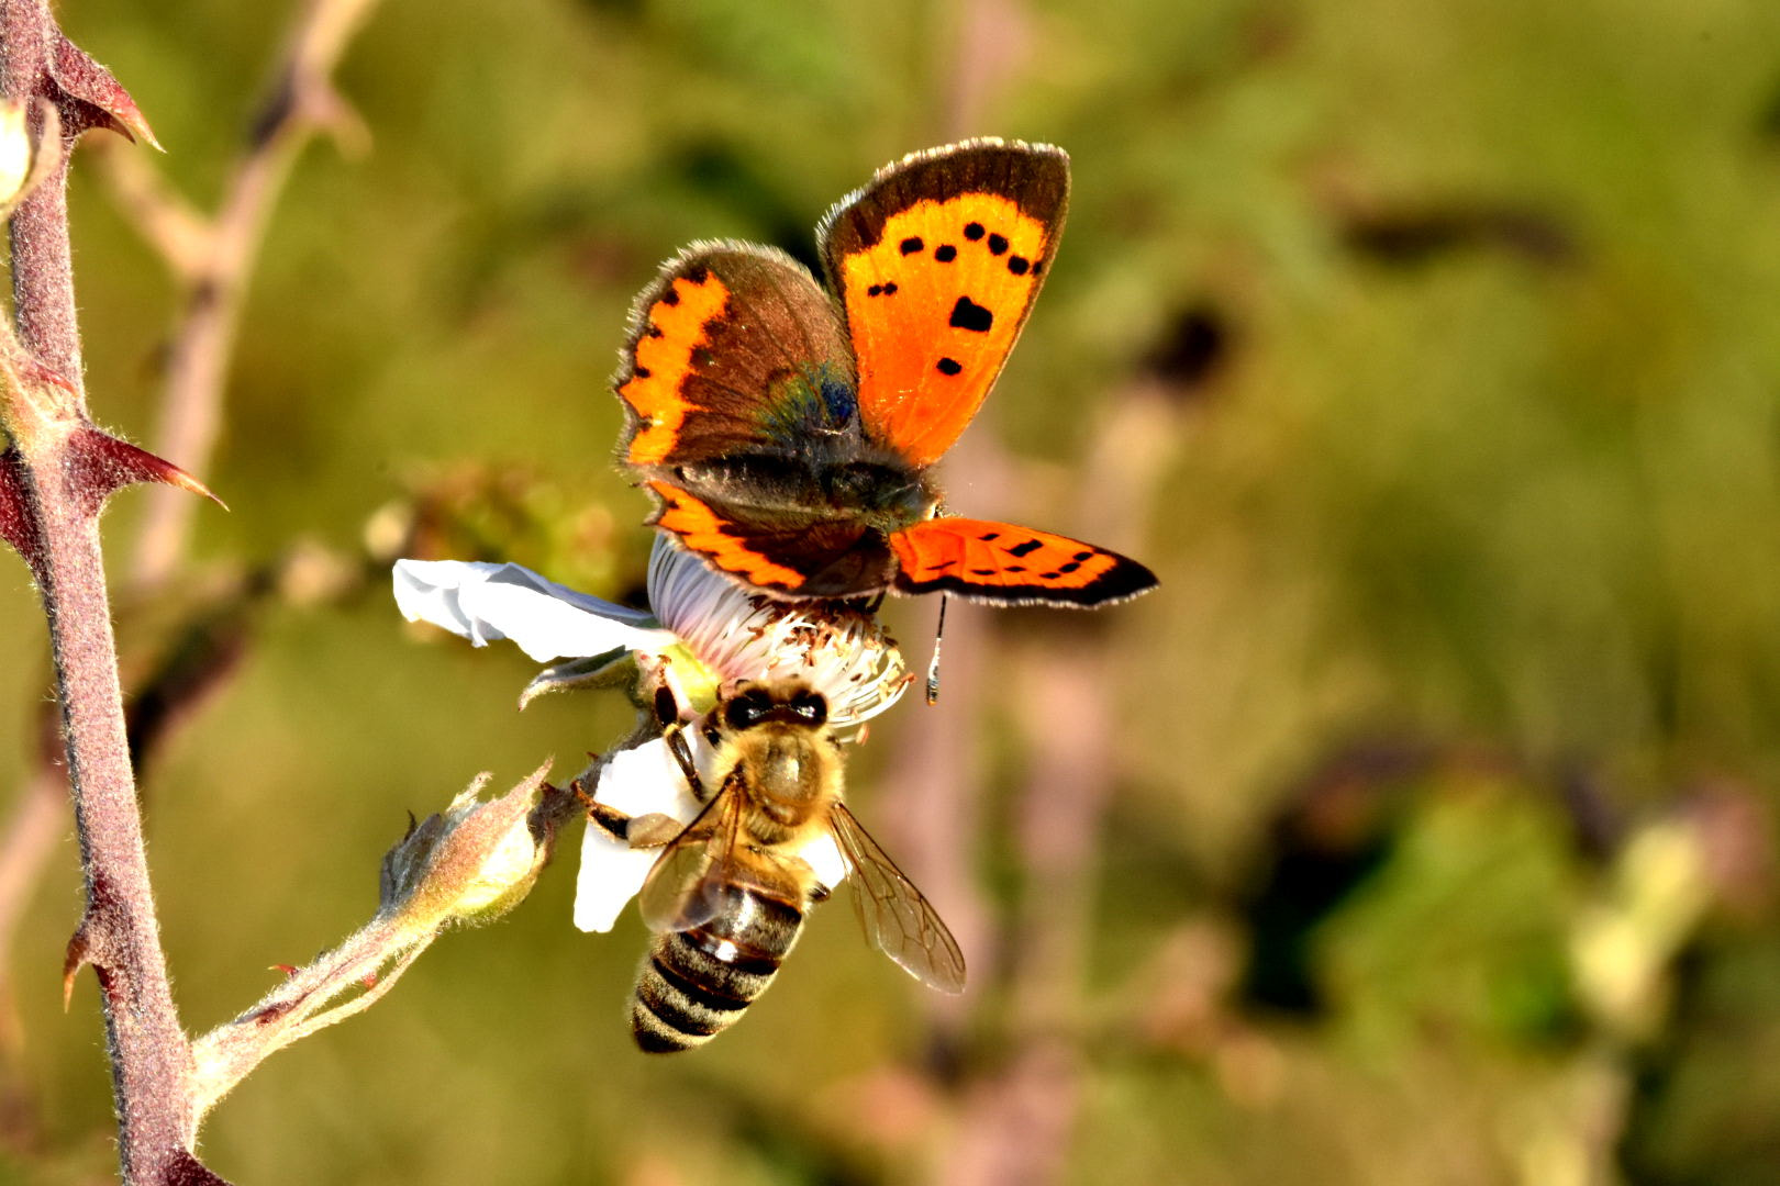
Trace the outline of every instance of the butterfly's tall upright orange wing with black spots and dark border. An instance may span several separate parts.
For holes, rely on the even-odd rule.
[[[906,156],[817,231],[872,439],[926,468],[977,414],[1063,235],[1059,148],[967,140]]]

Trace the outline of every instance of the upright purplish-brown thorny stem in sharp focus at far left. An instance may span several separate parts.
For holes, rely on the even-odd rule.
[[[7,98],[28,101],[59,92],[52,64],[59,39],[43,0],[0,4],[0,75]],[[39,119],[34,110],[37,126]],[[125,1179],[203,1181],[205,1172],[190,1156],[192,1126],[185,1108],[190,1051],[167,985],[125,741],[100,553],[101,498],[93,498],[91,477],[82,475],[77,455],[85,397],[68,244],[66,148],[78,132],[78,126],[68,128],[62,162],[11,220],[20,340],[68,384],[66,391],[59,389],[61,407],[14,443],[23,462],[28,514],[41,541],[32,569],[50,621],[85,880],[85,914],[69,955],[91,962],[100,980]]]

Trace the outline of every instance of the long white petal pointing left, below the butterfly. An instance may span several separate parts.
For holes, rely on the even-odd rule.
[[[660,651],[675,644],[653,619],[548,581],[518,564],[397,560],[395,605],[415,622],[443,626],[475,645],[511,638],[538,661]]]

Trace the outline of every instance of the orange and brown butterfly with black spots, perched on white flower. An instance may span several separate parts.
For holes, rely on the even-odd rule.
[[[698,242],[635,301],[612,386],[650,519],[774,597],[949,590],[1093,606],[1150,569],[940,514],[933,464],[995,384],[1063,233],[1070,158],[979,139],[879,169],[817,226],[826,286],[773,247]]]

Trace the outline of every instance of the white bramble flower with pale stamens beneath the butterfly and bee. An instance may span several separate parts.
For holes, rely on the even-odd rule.
[[[527,688],[587,679],[634,661],[644,683],[668,686],[680,720],[703,717],[719,692],[740,681],[799,676],[828,699],[831,727],[847,727],[895,704],[910,683],[902,654],[878,621],[844,603],[789,603],[748,594],[666,535],[650,553],[653,613],[564,589],[516,564],[397,560],[395,603],[408,621],[425,621],[486,645],[511,638],[546,669]],[[589,661],[591,660],[591,661]],[[523,701],[523,697],[522,697]],[[708,788],[723,781],[703,731],[687,740]],[[662,738],[611,754],[598,768],[595,800],[628,816],[668,814],[691,823],[700,802]],[[589,823],[575,887],[575,925],[611,930],[643,887],[655,848],[630,848]],[[838,885],[846,862],[828,836],[799,853],[817,878]]]

